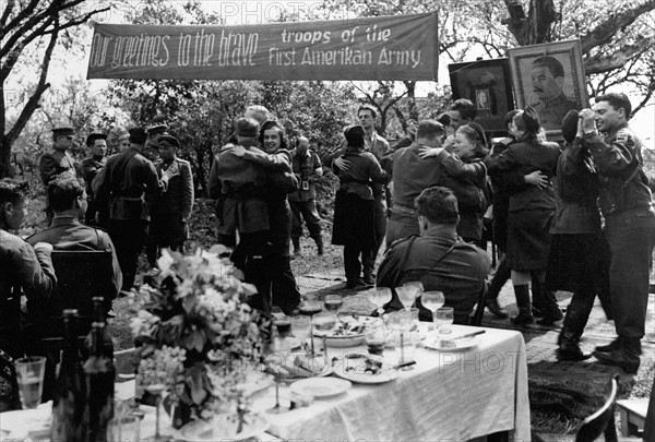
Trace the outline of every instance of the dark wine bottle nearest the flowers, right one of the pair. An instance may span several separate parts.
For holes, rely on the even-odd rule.
[[[84,362],[86,379],[86,410],[88,442],[105,442],[107,425],[114,417],[114,361],[105,355],[103,333],[105,324],[94,322],[91,326],[92,350]]]

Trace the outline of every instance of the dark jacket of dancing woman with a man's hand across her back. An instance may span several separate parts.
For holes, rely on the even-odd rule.
[[[511,144],[499,156],[487,158],[486,164],[489,174],[517,170],[521,175],[527,175],[540,170],[550,179],[555,175],[559,154],[560,148],[556,143],[520,142]],[[555,191],[550,183],[544,190],[531,186],[510,196],[510,212],[538,208],[555,210]]]

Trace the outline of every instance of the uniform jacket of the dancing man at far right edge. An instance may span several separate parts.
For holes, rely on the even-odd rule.
[[[641,142],[627,123],[617,126],[605,138],[592,133],[585,134],[582,141],[598,170],[598,202],[604,215],[651,206]]]

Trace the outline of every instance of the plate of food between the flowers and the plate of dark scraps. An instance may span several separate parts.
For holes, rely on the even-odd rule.
[[[278,377],[283,381],[326,377],[333,369],[324,354],[311,356],[305,351],[276,353],[266,356],[265,372]]]

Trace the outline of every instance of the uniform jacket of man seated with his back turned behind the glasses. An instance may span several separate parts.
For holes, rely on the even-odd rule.
[[[445,254],[451,247],[453,250]],[[445,306],[455,309],[455,322],[465,324],[485,285],[489,265],[489,256],[481,249],[462,241],[455,232],[433,227],[424,236],[403,238],[391,246],[378,270],[377,285],[395,288],[405,282],[420,280],[426,291],[443,291]],[[395,291],[390,308],[403,308]],[[425,308],[420,315],[431,319]]]

